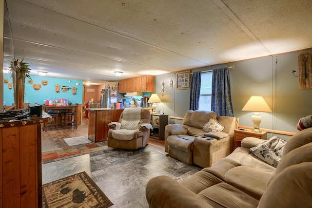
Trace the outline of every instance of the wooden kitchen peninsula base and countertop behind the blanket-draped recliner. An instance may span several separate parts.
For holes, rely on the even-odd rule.
[[[88,108],[87,110],[89,111],[88,138],[94,142],[107,140],[108,124],[113,121],[119,122],[123,109]]]

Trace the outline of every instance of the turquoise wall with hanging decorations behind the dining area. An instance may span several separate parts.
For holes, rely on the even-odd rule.
[[[3,78],[8,78],[9,83],[12,83],[10,75],[4,75]],[[66,98],[71,103],[82,104],[82,95],[83,95],[83,82],[82,80],[71,80],[71,79],[60,79],[60,78],[51,78],[44,76],[31,76],[34,81],[33,84],[28,83],[28,78],[25,80],[25,98],[24,102],[29,103],[39,103],[43,104],[45,99],[59,99]],[[48,81],[47,85],[43,85],[41,81]],[[69,82],[70,81],[70,82]],[[78,85],[76,85],[78,83]],[[40,84],[41,88],[36,91],[33,88],[34,84]],[[55,85],[59,84],[60,86],[68,86],[70,89],[67,92],[62,92],[59,89],[59,93],[55,91]],[[76,95],[72,95],[72,87],[76,87]],[[10,106],[14,103],[13,97],[13,88],[9,90],[8,84],[3,84],[3,99],[5,100],[5,105]]]

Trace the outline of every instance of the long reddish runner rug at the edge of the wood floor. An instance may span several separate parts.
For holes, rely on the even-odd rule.
[[[55,150],[42,151],[42,164],[51,163],[71,157],[76,157],[83,154],[89,154],[104,149],[96,143],[78,145],[73,147],[64,147]]]

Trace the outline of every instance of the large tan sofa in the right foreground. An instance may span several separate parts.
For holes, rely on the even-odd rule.
[[[251,153],[262,142],[244,138],[229,156],[181,183],[168,176],[151,179],[149,207],[311,208],[312,128],[287,141],[276,169]]]

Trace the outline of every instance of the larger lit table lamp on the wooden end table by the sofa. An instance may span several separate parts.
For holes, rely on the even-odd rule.
[[[272,112],[271,108],[265,102],[262,96],[251,96],[242,111],[254,111],[252,121],[254,123],[254,132],[261,132],[259,125],[261,123],[261,115],[257,112]]]

